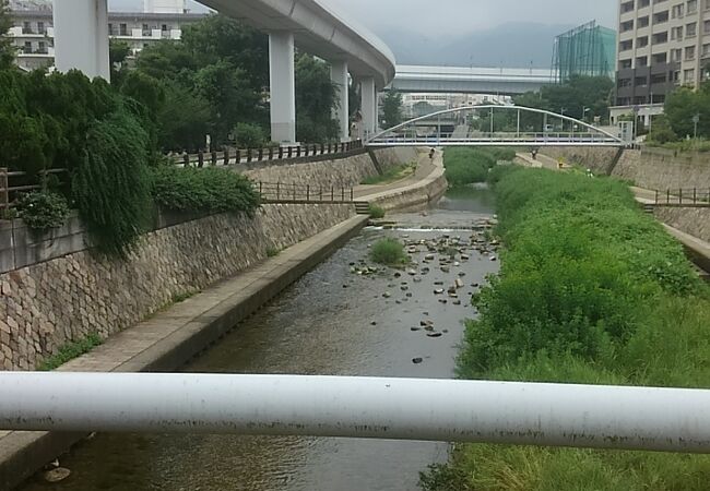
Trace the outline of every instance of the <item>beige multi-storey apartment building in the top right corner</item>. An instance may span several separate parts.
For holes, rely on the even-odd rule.
[[[619,0],[616,107],[648,124],[678,85],[697,88],[710,63],[710,0]]]

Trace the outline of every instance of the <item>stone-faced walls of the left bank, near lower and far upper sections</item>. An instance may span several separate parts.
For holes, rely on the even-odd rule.
[[[379,168],[415,160],[414,148],[384,148],[339,160],[255,166],[270,182],[356,185]],[[29,370],[62,345],[135,324],[174,298],[199,291],[342,223],[351,205],[265,205],[253,219],[161,214],[127,261],[95,254],[78,217],[36,235],[0,221],[0,370]]]

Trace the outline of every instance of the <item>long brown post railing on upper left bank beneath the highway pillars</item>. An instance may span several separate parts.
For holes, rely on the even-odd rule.
[[[297,146],[281,146],[265,148],[226,148],[222,152],[198,152],[197,154],[169,155],[176,165],[185,167],[204,167],[205,165],[236,165],[259,161],[273,161],[289,158],[315,157],[321,155],[347,154],[363,148],[359,140],[346,143],[321,143]]]

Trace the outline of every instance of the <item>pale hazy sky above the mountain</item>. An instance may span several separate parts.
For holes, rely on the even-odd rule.
[[[238,1],[238,0],[235,0]],[[507,22],[616,27],[618,0],[321,0],[375,32],[387,28],[463,34]],[[141,0],[109,0],[114,10],[141,10]]]

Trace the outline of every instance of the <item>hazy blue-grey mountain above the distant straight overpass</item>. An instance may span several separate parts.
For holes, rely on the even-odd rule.
[[[403,29],[378,33],[400,64],[453,67],[549,68],[555,36],[569,25],[508,23],[459,36]]]

